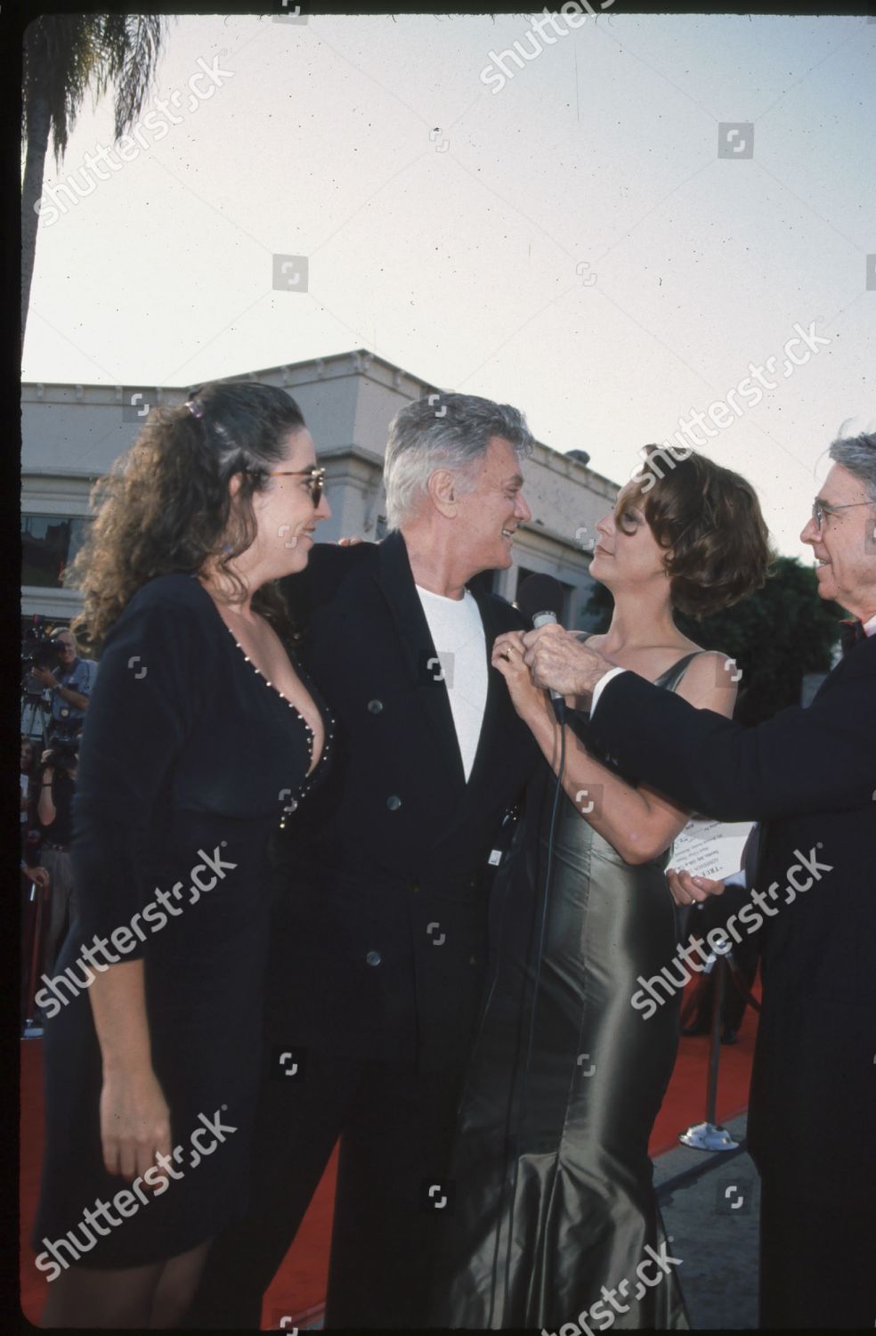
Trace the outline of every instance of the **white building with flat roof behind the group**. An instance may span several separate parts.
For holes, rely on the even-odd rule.
[[[358,350],[334,357],[243,371],[228,381],[262,381],[295,398],[326,466],[333,516],[320,540],[381,538],[386,529],[382,485],[387,428],[405,403],[439,393],[391,362]],[[191,386],[25,383],[23,417],[23,588],[29,620],[67,623],[79,611],[61,574],[88,524],[91,485],[134,442],[154,403],[182,403]],[[525,405],[522,405],[525,410]],[[578,456],[578,457],[576,457]],[[533,512],[518,529],[514,565],[486,576],[513,600],[530,572],[554,576],[565,588],[565,624],[584,627],[593,581],[588,574],[596,522],[612,506],[617,484],[586,466],[584,452],[562,454],[537,445],[523,464],[523,496]]]

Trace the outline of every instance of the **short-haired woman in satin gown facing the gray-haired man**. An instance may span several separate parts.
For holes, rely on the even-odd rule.
[[[593,643],[729,716],[729,660],[688,640],[673,609],[702,616],[760,588],[766,528],[738,474],[697,456],[664,472],[654,450],[597,525],[590,574],[614,615]],[[632,998],[674,958],[665,868],[690,814],[602,766],[586,751],[586,716],[570,709],[553,822],[558,727],[522,660],[519,632],[497,639],[493,664],[545,762],[495,887],[495,966],[461,1106],[435,1325],[686,1327],[648,1157],[681,987],[649,1019]]]

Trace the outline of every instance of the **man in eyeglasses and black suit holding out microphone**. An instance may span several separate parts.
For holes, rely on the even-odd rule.
[[[809,708],[744,728],[562,628],[523,637],[534,680],[590,701],[593,743],[624,774],[709,816],[765,823],[748,1140],[761,1174],[761,1325],[777,1328],[876,1317],[876,434],[829,454],[800,538],[820,596],[852,620]],[[670,880],[680,898],[721,888]]]

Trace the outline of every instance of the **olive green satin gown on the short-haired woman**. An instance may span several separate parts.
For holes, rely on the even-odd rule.
[[[657,685],[673,689],[692,657]],[[669,854],[625,863],[561,792],[538,971],[554,791],[545,763],[495,886],[497,951],[461,1102],[433,1321],[560,1332],[601,1300],[618,1329],[688,1328],[677,1268],[653,1288],[636,1272],[646,1245],[674,1256],[648,1141],[676,1059],[678,998],[648,1019],[630,1002],[638,975],[674,958]],[[590,1331],[605,1323],[590,1319]]]

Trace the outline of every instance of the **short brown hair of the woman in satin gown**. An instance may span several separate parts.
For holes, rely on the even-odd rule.
[[[666,549],[673,608],[700,619],[762,588],[773,554],[750,482],[693,452],[682,458],[646,445],[645,456],[633,484],[652,533]],[[624,529],[620,504],[614,520]]]

